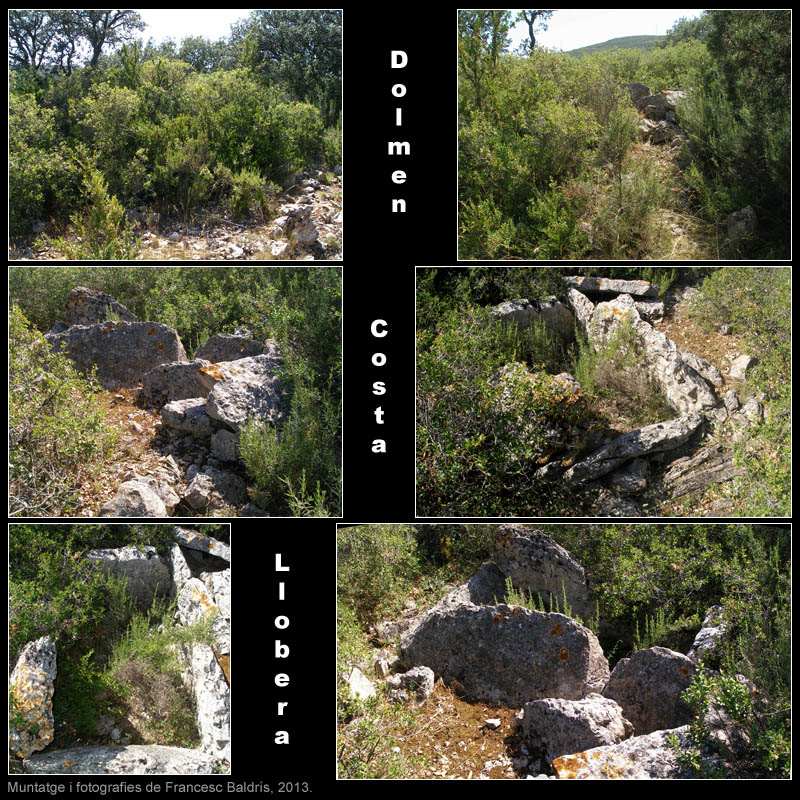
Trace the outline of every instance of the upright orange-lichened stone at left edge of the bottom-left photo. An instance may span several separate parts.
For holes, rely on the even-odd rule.
[[[22,648],[9,684],[9,751],[27,758],[53,741],[56,645],[49,636]]]

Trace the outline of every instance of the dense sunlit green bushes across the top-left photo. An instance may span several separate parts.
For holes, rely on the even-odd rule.
[[[242,42],[268,22],[256,20],[258,14],[226,44],[230,58],[214,59],[210,71],[197,67],[191,49],[186,61],[174,48],[138,43],[69,71],[15,67],[9,103],[12,235],[37,232],[50,219],[66,223],[75,210],[91,206],[88,181],[95,171],[120,210],[148,206],[188,220],[225,200],[235,213],[247,213],[249,200],[268,192],[270,183],[339,163],[326,162],[340,157],[337,12],[282,13],[284,40],[277,47],[285,51],[285,68],[279,72]],[[310,21],[316,27],[308,28]],[[325,64],[321,38],[330,53]],[[314,47],[318,60],[311,65],[308,49],[301,48]],[[304,70],[319,79],[313,90]],[[93,241],[73,233],[84,245]]]

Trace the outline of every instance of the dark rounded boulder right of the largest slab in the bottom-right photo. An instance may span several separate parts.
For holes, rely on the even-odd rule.
[[[681,693],[694,673],[695,664],[688,656],[666,647],[651,647],[619,661],[603,695],[622,706],[637,736],[677,728],[691,720]]]

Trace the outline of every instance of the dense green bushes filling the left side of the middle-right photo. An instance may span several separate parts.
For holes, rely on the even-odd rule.
[[[580,392],[546,371],[562,371],[561,340],[536,326],[520,333],[476,308],[450,312],[426,338],[417,356],[418,512],[563,509],[558,488],[534,473],[591,414]]]

